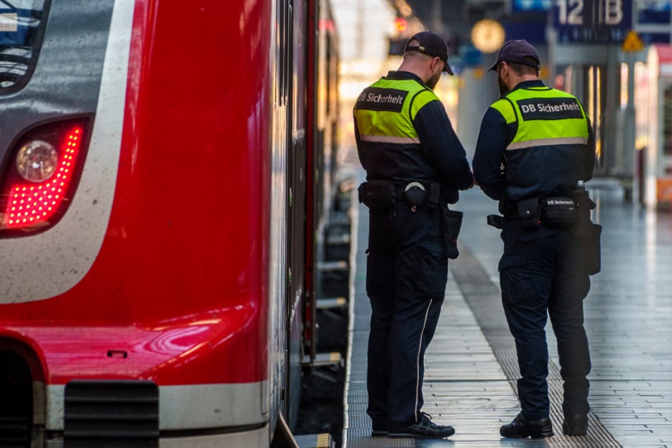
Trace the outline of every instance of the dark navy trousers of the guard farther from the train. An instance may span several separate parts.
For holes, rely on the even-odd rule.
[[[584,329],[583,299],[590,280],[581,266],[582,242],[569,230],[521,241],[521,231],[507,223],[500,260],[502,304],[516,341],[521,378],[518,394],[525,418],[549,415],[546,316],[558,341],[560,375],[564,382],[565,415],[589,411],[591,369]]]

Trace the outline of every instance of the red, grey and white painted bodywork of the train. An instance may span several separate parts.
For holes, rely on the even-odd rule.
[[[67,209],[0,228],[0,358],[18,353],[33,381],[33,437],[67,437],[78,394],[142,390],[162,446],[200,430],[204,447],[264,446],[292,408],[314,38],[312,2],[293,3],[45,4],[30,81],[0,89],[19,117],[0,134],[5,173],[26,129],[83,120]]]

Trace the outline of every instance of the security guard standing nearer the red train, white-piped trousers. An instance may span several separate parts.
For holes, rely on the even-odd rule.
[[[448,209],[473,185],[466,152],[432,89],[453,74],[442,38],[411,37],[398,71],[365,88],[354,108],[369,207],[367,294],[372,316],[367,413],[374,436],[449,437],[422,412],[425,350],[434,336],[456,257],[461,212]]]

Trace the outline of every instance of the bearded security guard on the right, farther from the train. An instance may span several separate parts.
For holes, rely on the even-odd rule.
[[[504,215],[502,305],[521,374],[521,413],[500,428],[502,437],[553,435],[547,311],[565,382],[562,430],[583,435],[588,428],[586,375],[591,364],[583,299],[594,272],[582,264],[582,251],[590,244],[577,231],[579,215],[589,220],[590,204],[587,194],[579,196],[576,190],[577,183],[592,177],[595,142],[579,100],[546,87],[538,78],[540,68],[538,52],[525,40],[505,42],[500,48],[490,70],[497,72],[502,97],[483,116],[473,157],[476,182],[500,201]],[[587,225],[590,235],[599,232],[594,230],[599,225]]]

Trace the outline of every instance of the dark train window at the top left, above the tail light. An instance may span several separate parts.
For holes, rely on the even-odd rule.
[[[42,46],[49,0],[0,0],[0,93],[25,86]]]

